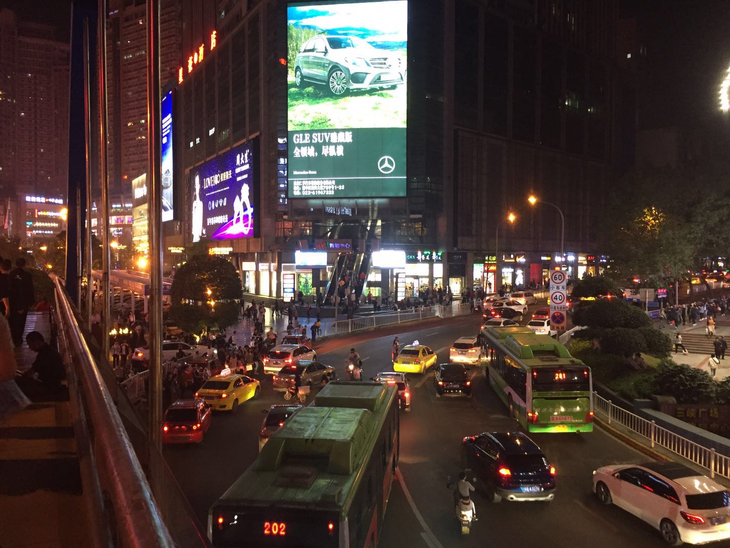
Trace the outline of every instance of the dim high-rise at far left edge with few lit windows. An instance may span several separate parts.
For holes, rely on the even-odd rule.
[[[63,195],[69,44],[53,26],[0,10],[0,193]]]

